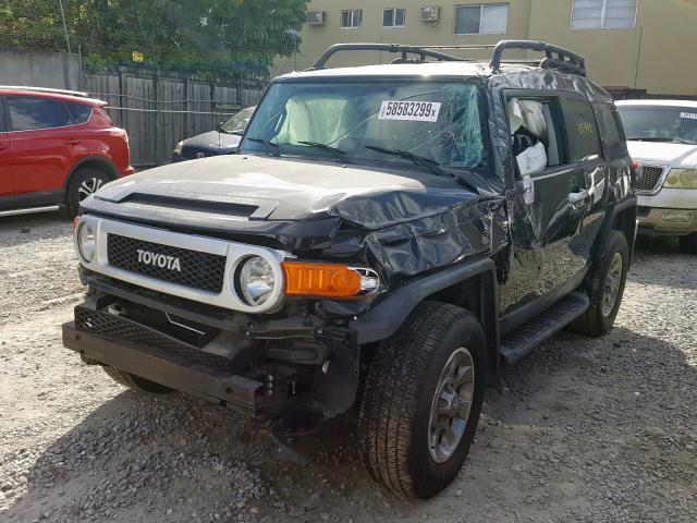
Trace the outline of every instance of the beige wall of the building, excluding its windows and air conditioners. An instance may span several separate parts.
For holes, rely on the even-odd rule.
[[[278,72],[304,69],[332,44],[383,41],[412,45],[496,44],[500,39],[529,38],[570,48],[586,57],[590,76],[616,89],[639,89],[652,95],[697,97],[697,0],[638,0],[636,26],[631,29],[572,29],[572,0],[510,0],[505,35],[454,35],[455,5],[505,3],[502,0],[313,0],[308,11],[326,11],[325,25],[305,25],[299,57],[279,60]],[[440,5],[437,24],[419,21],[424,5]],[[382,8],[406,8],[406,27],[382,27]],[[340,11],[363,9],[363,27],[342,29]],[[457,54],[457,51],[447,51]],[[535,54],[530,53],[529,58]],[[489,58],[490,51],[469,52]],[[506,53],[509,58],[522,58]],[[382,63],[392,57],[338,58],[333,65]],[[637,66],[638,65],[638,66]]]

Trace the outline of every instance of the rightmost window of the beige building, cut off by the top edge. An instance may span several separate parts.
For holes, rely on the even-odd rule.
[[[572,29],[631,29],[638,0],[574,0]]]

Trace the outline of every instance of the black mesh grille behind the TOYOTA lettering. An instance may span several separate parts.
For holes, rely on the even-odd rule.
[[[138,262],[138,250],[179,258],[181,271]],[[134,238],[108,234],[109,265],[158,280],[209,292],[221,292],[225,272],[225,257],[146,242]]]

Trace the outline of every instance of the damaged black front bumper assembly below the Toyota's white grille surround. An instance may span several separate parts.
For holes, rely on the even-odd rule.
[[[63,325],[63,344],[87,364],[120,368],[268,426],[298,411],[331,417],[355,401],[359,348],[343,331],[323,326],[316,333],[303,315],[255,320],[84,269],[81,278],[90,295]]]

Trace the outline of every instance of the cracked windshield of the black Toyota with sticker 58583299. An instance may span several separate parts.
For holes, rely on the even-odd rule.
[[[473,169],[487,162],[476,85],[445,82],[279,83],[244,150],[345,162]]]

